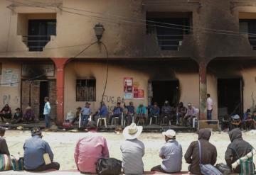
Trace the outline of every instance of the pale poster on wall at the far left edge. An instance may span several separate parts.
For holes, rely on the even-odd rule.
[[[18,86],[18,69],[3,69],[1,74],[1,86]]]

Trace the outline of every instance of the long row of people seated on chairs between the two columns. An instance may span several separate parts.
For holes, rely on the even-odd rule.
[[[86,125],[90,115],[92,115],[90,103],[85,103],[85,107],[83,108],[77,108],[76,117],[73,119],[72,124],[78,120],[80,115],[82,125]],[[105,103],[102,102],[97,113],[92,115],[92,120],[97,122],[97,119],[107,118],[108,115],[108,108]],[[174,107],[170,106],[169,101],[165,101],[164,106],[162,106],[160,110],[158,104],[155,102],[151,106],[144,106],[143,104],[140,104],[135,110],[135,107],[131,101],[129,102],[129,106],[124,103],[124,108],[122,108],[121,103],[117,103],[117,106],[114,107],[110,115],[108,125],[112,125],[112,120],[114,119],[118,119],[119,125],[124,125],[124,122],[126,125],[129,125],[132,122],[143,123],[143,125],[145,125],[149,123],[151,124],[150,121],[152,121],[152,118],[156,118],[156,125],[161,125],[165,123],[166,120],[166,123],[174,122],[176,125],[191,126],[193,118],[196,118],[197,116],[198,109],[193,107],[191,103],[188,103],[188,108],[186,108],[183,106],[182,102],[180,102],[177,107]],[[122,118],[124,120],[123,123]]]

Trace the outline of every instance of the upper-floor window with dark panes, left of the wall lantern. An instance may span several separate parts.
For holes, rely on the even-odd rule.
[[[29,51],[43,51],[50,41],[50,35],[56,35],[56,19],[28,20]]]

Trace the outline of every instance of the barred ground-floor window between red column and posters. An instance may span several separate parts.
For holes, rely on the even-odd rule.
[[[76,80],[76,101],[96,101],[96,79]]]

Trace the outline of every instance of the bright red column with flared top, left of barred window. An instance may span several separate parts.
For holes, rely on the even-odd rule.
[[[62,125],[64,118],[64,67],[65,63],[69,60],[69,58],[61,57],[51,58],[53,60],[57,73],[56,73],[56,94],[57,94],[57,116],[56,116],[56,124]]]

